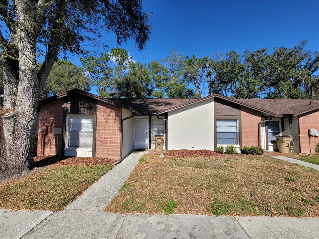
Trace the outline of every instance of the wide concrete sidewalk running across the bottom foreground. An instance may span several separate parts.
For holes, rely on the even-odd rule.
[[[36,212],[39,216],[32,222],[28,218],[31,214],[34,217],[34,212],[6,210],[3,216],[4,210],[0,211],[1,238],[319,238],[319,218],[115,214],[96,210],[46,213]],[[24,231],[23,225],[27,225]]]

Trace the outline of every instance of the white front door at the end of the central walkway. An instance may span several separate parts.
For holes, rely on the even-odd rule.
[[[148,119],[135,119],[134,148],[148,148]]]

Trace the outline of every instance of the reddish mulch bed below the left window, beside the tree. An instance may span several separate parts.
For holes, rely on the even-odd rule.
[[[116,160],[111,158],[96,157],[66,157],[66,156],[39,156],[34,158],[34,167],[45,167],[48,165],[100,165],[111,164]]]

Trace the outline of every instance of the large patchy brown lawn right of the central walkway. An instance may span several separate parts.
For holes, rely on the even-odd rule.
[[[106,211],[319,216],[319,172],[266,156],[147,154]]]

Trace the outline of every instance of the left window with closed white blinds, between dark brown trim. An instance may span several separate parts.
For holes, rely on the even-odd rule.
[[[68,147],[92,148],[93,116],[69,116]]]

